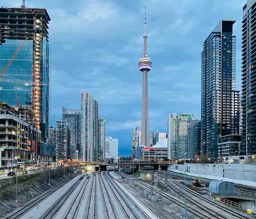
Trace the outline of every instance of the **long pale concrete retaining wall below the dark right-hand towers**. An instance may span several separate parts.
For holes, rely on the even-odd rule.
[[[184,164],[173,165],[170,170],[184,174]],[[186,164],[186,174],[256,186],[256,165],[253,164]]]

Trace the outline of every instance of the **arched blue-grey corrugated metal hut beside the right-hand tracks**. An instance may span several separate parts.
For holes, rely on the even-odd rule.
[[[234,183],[221,180],[213,180],[209,185],[211,193],[215,194],[236,194]]]

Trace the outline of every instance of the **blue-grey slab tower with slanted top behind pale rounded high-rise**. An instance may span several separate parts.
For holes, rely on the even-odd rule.
[[[62,106],[62,120],[67,121],[70,129],[71,144],[76,145],[78,158],[81,158],[81,110],[67,109]]]

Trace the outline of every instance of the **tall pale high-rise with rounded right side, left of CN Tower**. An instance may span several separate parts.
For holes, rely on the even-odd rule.
[[[99,104],[86,91],[81,93],[81,148],[82,161],[98,161]]]

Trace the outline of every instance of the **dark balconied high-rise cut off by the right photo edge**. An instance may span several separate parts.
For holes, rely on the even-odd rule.
[[[247,0],[242,20],[242,139],[241,155],[256,154],[255,87],[255,10],[256,1]]]

